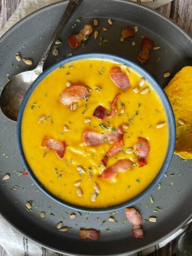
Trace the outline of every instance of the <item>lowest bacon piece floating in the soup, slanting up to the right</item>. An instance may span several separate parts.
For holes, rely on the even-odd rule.
[[[132,161],[130,159],[118,160],[114,165],[109,166],[105,169],[100,178],[104,180],[109,180],[115,178],[118,172],[126,172],[127,169],[131,169]]]

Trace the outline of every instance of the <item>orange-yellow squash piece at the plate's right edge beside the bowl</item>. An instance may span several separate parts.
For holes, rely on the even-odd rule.
[[[174,154],[192,158],[192,66],[183,67],[165,87],[176,122]]]

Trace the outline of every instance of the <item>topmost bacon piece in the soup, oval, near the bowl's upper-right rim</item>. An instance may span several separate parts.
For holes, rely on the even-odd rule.
[[[130,86],[129,77],[121,71],[121,68],[111,68],[109,75],[115,84],[121,89],[127,89]]]

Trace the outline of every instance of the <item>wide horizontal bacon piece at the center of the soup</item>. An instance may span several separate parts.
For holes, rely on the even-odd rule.
[[[85,146],[98,146],[103,143],[115,142],[123,136],[122,126],[119,126],[115,132],[108,131],[106,133],[99,133],[94,131],[84,131],[82,134],[83,143]]]

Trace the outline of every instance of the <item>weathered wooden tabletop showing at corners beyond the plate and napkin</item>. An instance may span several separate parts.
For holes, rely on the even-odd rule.
[[[0,0],[0,30],[4,27],[6,21],[17,8],[21,0]],[[191,0],[173,0],[157,9],[167,17],[171,18],[180,27],[192,36],[192,1]],[[165,31],[166,33],[166,31]],[[177,251],[178,238],[175,238],[162,249],[151,253],[149,256],[172,256]],[[8,256],[0,246],[0,256]]]

